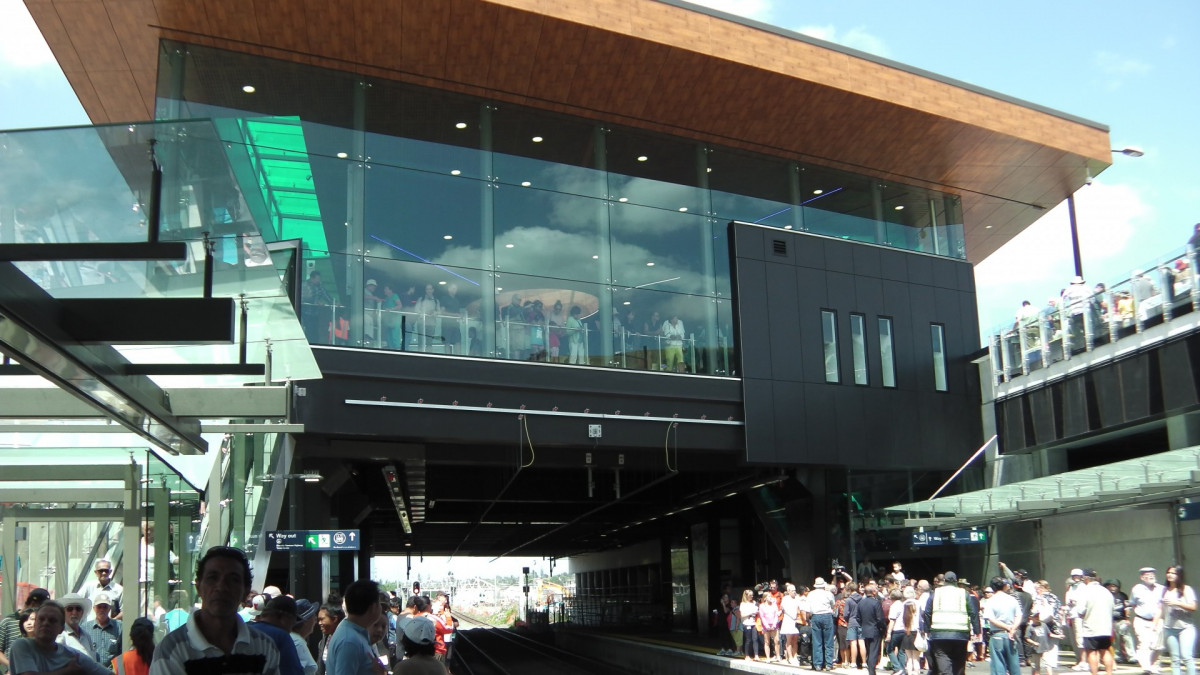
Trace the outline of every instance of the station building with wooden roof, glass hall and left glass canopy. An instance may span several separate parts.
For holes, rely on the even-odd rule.
[[[580,608],[695,629],[918,556],[886,507],[996,428],[972,263],[1111,163],[686,2],[26,6],[95,126],[0,135],[5,611],[97,556],[166,605],[232,544],[307,597],[568,558]]]

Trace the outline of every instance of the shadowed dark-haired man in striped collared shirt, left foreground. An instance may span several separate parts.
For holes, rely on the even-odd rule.
[[[251,631],[238,616],[242,598],[250,593],[250,560],[244,551],[232,546],[205,551],[196,563],[200,609],[158,644],[150,675],[280,675],[280,650],[275,643]]]

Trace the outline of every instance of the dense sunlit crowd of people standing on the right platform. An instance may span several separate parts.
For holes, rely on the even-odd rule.
[[[983,587],[954,572],[910,579],[900,562],[857,580],[834,567],[829,581],[818,577],[811,586],[772,580],[737,597],[726,587],[712,626],[719,656],[816,671],[964,675],[968,663],[988,662],[992,675],[1020,675],[1022,667],[1054,675],[1066,643],[1074,671],[1112,675],[1120,661],[1158,675],[1165,651],[1172,675],[1195,675],[1196,595],[1181,566],[1165,577],[1160,585],[1145,567],[1127,596],[1118,579],[1102,583],[1094,569],[1076,568],[1060,599],[1049,581],[1004,563]]]

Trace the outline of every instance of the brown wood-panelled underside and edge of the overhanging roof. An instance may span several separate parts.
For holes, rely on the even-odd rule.
[[[94,123],[151,119],[158,40],[610,120],[961,196],[980,261],[1111,163],[1108,130],[660,0],[25,0]]]

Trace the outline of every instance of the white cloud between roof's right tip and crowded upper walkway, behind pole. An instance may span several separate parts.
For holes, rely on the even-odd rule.
[[[1134,187],[1099,180],[1075,193],[1080,257],[1088,283],[1126,279],[1145,263],[1130,259],[1134,235],[1153,227],[1153,209]],[[1058,204],[1007,245],[976,264],[979,329],[986,333],[1010,322],[1021,300],[1037,306],[1058,295],[1074,276],[1070,219]]]

